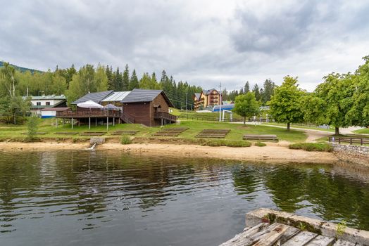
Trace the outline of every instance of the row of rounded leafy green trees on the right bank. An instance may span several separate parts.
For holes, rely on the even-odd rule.
[[[353,73],[325,76],[312,93],[299,88],[297,77],[284,77],[267,102],[270,117],[286,123],[288,130],[291,123],[327,124],[336,135],[340,127],[369,127],[369,56],[363,60]],[[245,118],[258,114],[260,104],[254,92],[237,96],[235,103],[234,111]]]

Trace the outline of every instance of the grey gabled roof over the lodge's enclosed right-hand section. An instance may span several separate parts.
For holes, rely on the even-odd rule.
[[[146,90],[146,89],[133,89],[121,102],[122,103],[144,103],[153,101],[160,93],[163,94],[165,101],[167,101],[170,107],[173,104],[169,98],[161,90]]]

